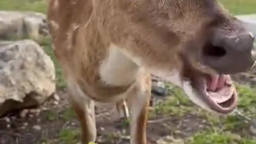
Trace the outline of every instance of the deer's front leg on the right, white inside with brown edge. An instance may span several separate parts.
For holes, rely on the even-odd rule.
[[[146,126],[149,100],[151,94],[151,79],[146,78],[138,87],[135,87],[133,94],[128,95],[128,107],[130,109],[131,144],[146,144]]]

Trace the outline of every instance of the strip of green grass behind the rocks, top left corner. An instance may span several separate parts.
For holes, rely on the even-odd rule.
[[[0,10],[46,13],[47,0],[1,0]]]

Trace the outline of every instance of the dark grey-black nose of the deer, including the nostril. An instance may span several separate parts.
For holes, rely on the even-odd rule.
[[[203,47],[203,61],[221,74],[236,74],[249,70],[256,60],[252,33],[243,35],[217,31]]]

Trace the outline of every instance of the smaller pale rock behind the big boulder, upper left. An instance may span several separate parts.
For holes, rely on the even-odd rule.
[[[35,12],[0,11],[0,39],[48,36],[46,16]]]

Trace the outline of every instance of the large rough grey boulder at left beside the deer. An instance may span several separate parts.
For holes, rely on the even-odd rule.
[[[0,117],[39,106],[55,91],[52,60],[34,41],[0,41]]]

